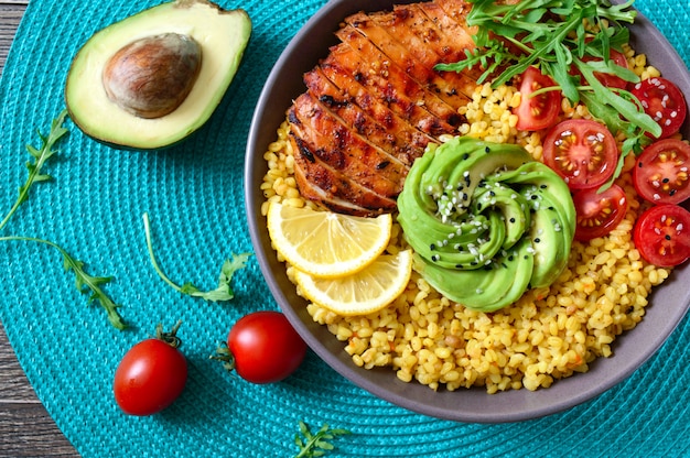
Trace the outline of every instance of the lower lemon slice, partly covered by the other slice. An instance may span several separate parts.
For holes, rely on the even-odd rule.
[[[342,279],[315,279],[295,270],[301,293],[314,304],[343,315],[366,315],[392,303],[407,287],[412,273],[411,250],[384,254],[369,266]]]

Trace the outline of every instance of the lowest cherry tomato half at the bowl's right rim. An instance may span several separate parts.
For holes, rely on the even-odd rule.
[[[673,204],[656,205],[637,218],[633,240],[647,262],[679,265],[690,258],[690,211]]]

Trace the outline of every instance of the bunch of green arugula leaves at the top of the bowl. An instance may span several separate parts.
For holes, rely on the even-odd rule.
[[[610,50],[621,50],[629,41],[625,23],[633,23],[637,12],[634,0],[612,4],[608,0],[521,0],[516,4],[497,4],[494,0],[470,0],[473,8],[467,24],[476,25],[474,51],[464,61],[440,64],[436,69],[462,72],[481,65],[478,81],[493,77],[492,86],[506,84],[529,66],[539,66],[550,76],[573,105],[582,101],[593,117],[611,132],[623,132],[626,141],[618,162],[619,175],[625,157],[642,152],[661,127],[645,113],[630,92],[611,89],[594,73],[607,73],[630,83],[639,77],[608,58]],[[589,61],[595,57],[600,61]],[[576,68],[580,77],[569,70]],[[496,75],[497,74],[497,75]],[[610,184],[605,185],[607,187]]]

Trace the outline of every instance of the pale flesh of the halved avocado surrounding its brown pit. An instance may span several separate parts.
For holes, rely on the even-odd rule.
[[[69,117],[85,134],[115,148],[157,150],[172,145],[208,120],[237,73],[250,35],[246,11],[223,10],[207,0],[176,0],[116,22],[94,34],[72,63],[65,85]],[[157,36],[188,39],[198,45],[201,58],[172,111],[138,116],[109,96],[104,70],[121,50]],[[169,61],[159,74],[176,68],[177,63]],[[141,67],[158,68],[151,59],[138,62],[139,73],[147,72]],[[160,80],[159,86],[170,87],[164,78]],[[134,92],[140,87],[130,85]]]

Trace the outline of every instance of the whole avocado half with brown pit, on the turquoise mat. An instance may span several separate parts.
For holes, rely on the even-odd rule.
[[[69,117],[116,148],[174,144],[212,116],[250,35],[246,11],[206,0],[162,3],[116,22],[94,34],[72,63]]]

